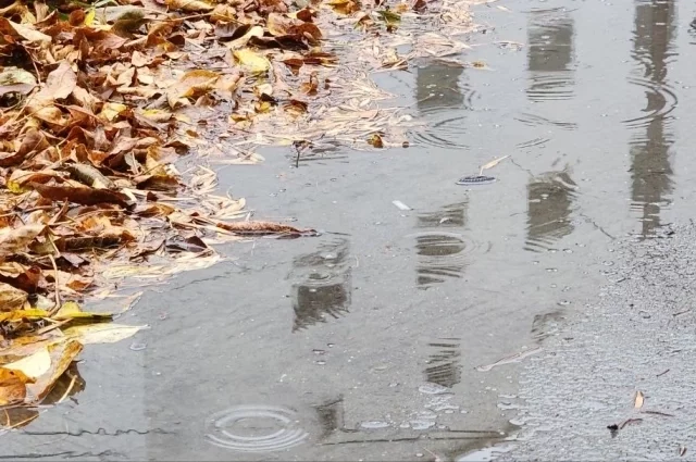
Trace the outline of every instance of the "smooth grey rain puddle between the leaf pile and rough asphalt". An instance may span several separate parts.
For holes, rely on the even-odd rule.
[[[2,435],[3,453],[496,457],[500,432],[527,417],[499,396],[520,395],[519,371],[547,361],[532,355],[618,277],[614,239],[652,239],[692,216],[696,196],[693,5],[500,5],[511,11],[477,7],[490,26],[448,57],[486,70],[423,59],[375,77],[426,124],[409,149],[353,152],[327,136],[299,161],[287,146],[221,170],[221,191],[256,217],[328,232],[235,242],[229,261],[147,290],[127,313],[152,325],[147,345],[85,353],[79,395]],[[456,184],[504,155],[484,172],[495,183]],[[229,394],[287,408],[217,413]],[[144,422],[142,435],[97,434]],[[39,435],[65,425],[92,433]]]

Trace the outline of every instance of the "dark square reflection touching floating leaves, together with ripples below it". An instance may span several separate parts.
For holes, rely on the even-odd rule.
[[[415,71],[415,101],[427,121],[424,130],[414,133],[417,142],[440,148],[465,148],[464,111],[474,96],[460,83],[464,68],[443,63],[428,63]],[[459,111],[457,111],[459,110]]]

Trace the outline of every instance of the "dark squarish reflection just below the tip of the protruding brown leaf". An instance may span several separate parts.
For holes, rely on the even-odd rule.
[[[326,315],[338,319],[348,312],[352,278],[348,241],[326,244],[313,253],[293,261],[293,273],[300,283],[293,285],[293,332],[326,322]]]

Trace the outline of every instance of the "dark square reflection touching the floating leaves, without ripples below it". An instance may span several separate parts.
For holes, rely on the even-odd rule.
[[[465,107],[459,79],[463,67],[430,63],[415,71],[415,101],[419,111]]]

